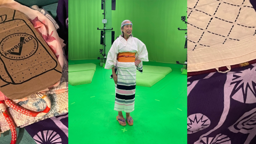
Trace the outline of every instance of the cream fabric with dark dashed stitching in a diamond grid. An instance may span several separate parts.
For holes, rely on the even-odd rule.
[[[256,59],[255,18],[249,0],[188,0],[188,72]]]

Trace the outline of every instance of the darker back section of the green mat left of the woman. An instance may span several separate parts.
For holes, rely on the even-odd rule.
[[[83,63],[68,66],[68,73],[76,72],[76,71],[85,71],[85,70],[94,70],[96,69],[96,65],[94,63]]]

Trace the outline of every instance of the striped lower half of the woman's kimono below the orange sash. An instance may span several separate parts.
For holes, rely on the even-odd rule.
[[[134,110],[136,68],[117,68],[115,108],[130,113]]]

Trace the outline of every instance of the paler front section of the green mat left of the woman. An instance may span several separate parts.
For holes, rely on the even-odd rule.
[[[86,70],[86,71],[76,71],[73,73],[68,73],[68,84],[73,86],[90,84],[92,83],[94,72],[95,70]]]

